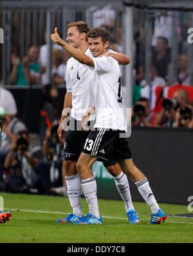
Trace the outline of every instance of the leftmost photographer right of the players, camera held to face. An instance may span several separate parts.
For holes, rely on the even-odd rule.
[[[132,109],[133,126],[152,127],[149,100],[140,98]]]

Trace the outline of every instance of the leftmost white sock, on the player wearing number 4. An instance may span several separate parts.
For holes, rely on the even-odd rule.
[[[79,175],[65,176],[68,198],[73,214],[82,217],[81,186]]]

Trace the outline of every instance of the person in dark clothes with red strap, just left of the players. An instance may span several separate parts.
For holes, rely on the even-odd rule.
[[[40,121],[40,136],[43,142],[46,129],[56,125],[59,120],[59,108],[57,105],[57,97],[59,96],[57,89],[54,85],[45,85],[41,93],[41,121]]]

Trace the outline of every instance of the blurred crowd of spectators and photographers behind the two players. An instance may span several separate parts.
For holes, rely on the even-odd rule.
[[[94,8],[94,7],[93,7]],[[111,34],[111,49],[123,52],[122,27],[116,27],[115,11],[104,8],[94,12],[93,27],[104,27]],[[178,29],[178,72],[170,84],[172,22],[168,14],[154,19],[151,45],[151,82],[145,80],[145,28],[134,34],[133,63],[133,127],[193,128],[193,86],[187,54],[185,14]],[[115,29],[116,28],[116,29]],[[21,59],[11,55],[11,85],[42,85],[39,138],[33,145],[28,127],[17,118],[17,99],[0,87],[0,191],[66,195],[62,147],[57,135],[60,112],[58,88],[65,87],[66,63],[69,55],[58,45],[52,48],[51,83],[46,77],[48,45],[32,45]],[[147,56],[147,55],[146,55]]]

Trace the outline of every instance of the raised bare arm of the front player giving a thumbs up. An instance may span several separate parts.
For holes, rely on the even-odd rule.
[[[53,43],[57,43],[60,45],[64,50],[66,50],[73,58],[77,59],[80,63],[87,65],[89,67],[95,67],[94,61],[92,58],[84,54],[84,52],[71,47],[68,43],[62,40],[57,32],[57,28],[54,29],[54,34],[51,35],[51,40]]]

